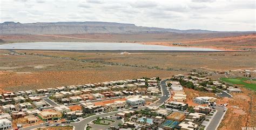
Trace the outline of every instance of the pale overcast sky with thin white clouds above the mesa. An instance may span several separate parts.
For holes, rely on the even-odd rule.
[[[254,0],[0,0],[0,23],[117,22],[137,26],[255,31]]]

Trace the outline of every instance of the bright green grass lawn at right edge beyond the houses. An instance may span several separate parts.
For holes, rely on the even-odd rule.
[[[246,88],[256,91],[256,84],[246,83],[245,81],[248,80],[247,78],[220,78],[220,80],[225,81],[227,83],[234,84],[234,85],[235,84],[236,85],[244,85]]]

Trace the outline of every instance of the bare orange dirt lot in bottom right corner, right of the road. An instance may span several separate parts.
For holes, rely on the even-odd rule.
[[[255,95],[252,91],[242,88],[242,93],[232,93],[232,98],[223,98],[219,104],[228,103],[228,110],[218,129],[237,129],[255,127],[256,107]]]

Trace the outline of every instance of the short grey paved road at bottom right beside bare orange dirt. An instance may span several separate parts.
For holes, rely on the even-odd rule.
[[[213,117],[212,121],[210,122],[209,126],[206,130],[215,130],[218,128],[219,122],[221,121],[221,117],[224,114],[225,107],[221,106],[214,106],[218,111],[215,116]]]

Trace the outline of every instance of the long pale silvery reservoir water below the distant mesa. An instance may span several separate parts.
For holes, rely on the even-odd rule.
[[[138,43],[78,43],[78,42],[34,42],[9,43],[0,45],[0,49],[23,50],[142,50],[142,51],[220,51],[199,47],[173,47],[145,45]]]

